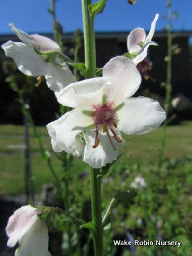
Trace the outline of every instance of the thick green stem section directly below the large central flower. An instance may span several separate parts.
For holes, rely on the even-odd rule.
[[[92,222],[95,225],[93,232],[94,256],[103,256],[103,225],[101,208],[101,176],[98,169],[90,167],[91,184],[91,211]]]

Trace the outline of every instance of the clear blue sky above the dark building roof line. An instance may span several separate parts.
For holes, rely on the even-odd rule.
[[[149,29],[156,13],[166,14],[165,4],[166,0],[137,0],[130,6],[127,0],[108,0],[104,12],[96,17],[96,31],[130,31],[138,26]],[[12,33],[9,22],[29,33],[52,32],[49,5],[50,0],[1,0],[0,34]],[[172,10],[179,13],[173,29],[192,30],[192,0],[172,0]],[[56,16],[65,32],[82,29],[81,0],[57,0]],[[157,30],[165,26],[166,20],[159,19]]]

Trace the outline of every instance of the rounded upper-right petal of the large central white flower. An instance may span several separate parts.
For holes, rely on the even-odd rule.
[[[106,86],[107,100],[116,106],[131,97],[141,84],[141,75],[133,61],[126,57],[110,59],[103,68],[103,77],[111,84]],[[105,88],[103,88],[105,90]]]

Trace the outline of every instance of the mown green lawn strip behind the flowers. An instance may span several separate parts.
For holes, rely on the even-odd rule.
[[[51,143],[45,127],[38,127],[41,132],[44,146],[51,152]],[[125,136],[124,154],[121,163],[127,159],[137,163],[158,158],[162,128],[139,136]],[[10,145],[24,144],[24,127],[21,125],[0,125],[0,194],[18,194],[24,192],[24,156],[22,149],[10,148]],[[181,158],[192,155],[192,121],[181,125],[169,126],[167,129],[167,146],[165,156],[168,158]],[[53,182],[52,174],[46,161],[41,159],[39,146],[31,134],[31,165],[34,176],[35,190],[39,192],[44,183]],[[53,165],[56,173],[62,175],[61,162],[53,153]],[[74,175],[88,170],[80,160],[75,160],[71,172]]]

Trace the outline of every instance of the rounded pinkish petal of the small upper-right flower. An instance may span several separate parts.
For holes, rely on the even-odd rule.
[[[144,43],[146,33],[144,28],[133,29],[127,37],[127,49],[129,53],[135,53],[141,50],[139,43]]]

